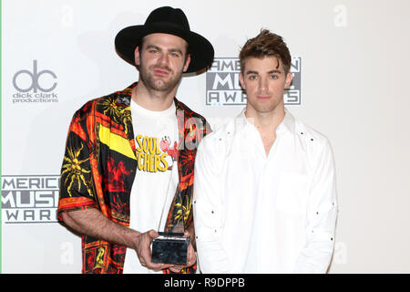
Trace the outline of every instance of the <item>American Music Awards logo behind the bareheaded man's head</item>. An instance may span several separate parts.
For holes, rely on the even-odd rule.
[[[215,57],[206,73],[207,100],[211,106],[246,105],[246,93],[241,89],[239,74],[241,63],[238,57]],[[301,104],[301,57],[292,57],[293,75],[290,89],[283,100],[286,105]]]

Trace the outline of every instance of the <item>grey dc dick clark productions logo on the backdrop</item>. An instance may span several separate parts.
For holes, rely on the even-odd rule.
[[[51,70],[38,70],[37,60],[33,60],[32,70],[19,70],[13,77],[13,103],[57,102],[56,73]]]

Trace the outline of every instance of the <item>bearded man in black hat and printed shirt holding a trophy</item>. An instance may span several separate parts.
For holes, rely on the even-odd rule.
[[[153,263],[150,244],[157,231],[194,237],[193,165],[210,127],[175,94],[182,73],[211,65],[213,47],[169,6],[121,30],[115,45],[139,80],[75,113],[58,220],[82,235],[83,273],[193,273],[192,244],[185,266]]]

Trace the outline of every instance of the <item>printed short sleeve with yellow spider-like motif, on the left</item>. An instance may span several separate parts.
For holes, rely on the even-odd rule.
[[[93,143],[89,139],[87,127],[89,107],[87,104],[76,112],[68,130],[57,209],[60,222],[62,212],[97,207],[90,162]]]

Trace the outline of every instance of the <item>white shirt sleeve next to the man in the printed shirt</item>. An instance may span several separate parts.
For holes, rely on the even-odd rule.
[[[193,214],[198,263],[204,274],[229,273],[230,260],[221,243],[223,204],[220,163],[215,155],[218,146],[207,138],[200,143],[195,160]]]

